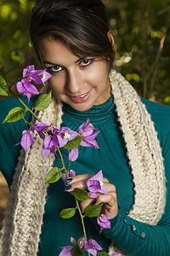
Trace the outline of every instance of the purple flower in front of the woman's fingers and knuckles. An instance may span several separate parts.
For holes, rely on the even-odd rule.
[[[103,183],[103,173],[100,170],[94,177],[90,177],[87,181],[88,190],[90,192],[90,197],[96,198],[95,193],[99,192],[101,194],[108,194],[107,187]]]

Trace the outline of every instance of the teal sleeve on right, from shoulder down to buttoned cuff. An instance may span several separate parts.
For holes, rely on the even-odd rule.
[[[122,252],[132,256],[165,256],[170,252],[170,108],[166,108],[167,113],[164,109],[159,108],[153,115],[167,179],[167,201],[161,220],[157,225],[144,224],[128,217],[120,207],[117,216],[111,219],[111,230],[102,231]],[[94,218],[93,222],[96,224]]]

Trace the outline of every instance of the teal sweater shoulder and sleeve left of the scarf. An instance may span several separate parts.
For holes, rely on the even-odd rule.
[[[20,99],[25,102],[29,108],[31,108],[37,97],[31,97],[29,104],[26,97],[20,96]],[[16,143],[20,143],[22,131],[27,129],[26,123],[23,119],[14,123],[3,124],[3,120],[8,115],[8,112],[15,107],[22,107],[21,103],[15,98],[0,100],[0,171],[6,178],[9,187],[13,180],[14,168],[17,165],[21,148],[20,146],[14,145]],[[28,122],[31,120],[31,114],[29,112],[26,113],[25,119]]]

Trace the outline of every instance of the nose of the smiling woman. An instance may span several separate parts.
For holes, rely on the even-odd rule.
[[[82,74],[78,70],[71,69],[67,73],[66,79],[66,89],[71,92],[71,94],[79,95],[82,92],[83,78]]]

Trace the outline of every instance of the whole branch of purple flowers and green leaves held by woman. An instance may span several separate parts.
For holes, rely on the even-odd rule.
[[[51,91],[48,94],[39,96],[37,98],[37,101],[33,104],[32,109],[30,109],[26,106],[24,102],[20,100],[20,97],[15,95],[15,93],[11,90],[11,86],[13,84],[16,84],[16,88],[18,92],[25,95],[28,98],[28,102],[30,102],[32,95],[39,94],[37,88],[33,84],[31,84],[31,82],[45,85],[45,82],[50,77],[51,75],[46,72],[46,69],[35,70],[33,65],[24,68],[23,77],[19,79],[18,82],[12,83],[9,86],[6,84],[3,77],[0,76],[0,95],[8,96],[8,93],[9,93],[10,95],[14,96],[25,108],[23,109],[23,108],[17,107],[17,108],[11,109],[7,117],[4,119],[3,123],[14,122],[19,119],[24,119],[26,112],[29,111],[31,115],[33,115],[37,119],[37,123],[29,124],[31,129],[29,131],[27,130],[22,132],[21,141],[16,145],[20,144],[21,147],[24,148],[25,151],[27,152],[27,150],[31,148],[31,145],[33,143],[33,139],[34,139],[33,131],[37,131],[39,137],[41,137],[43,140],[42,157],[45,157],[51,153],[58,156],[57,155],[57,152],[58,152],[60,160],[62,162],[62,168],[53,166],[53,168],[48,172],[45,183],[55,183],[62,177],[64,183],[66,184],[66,180],[69,179],[69,177],[73,177],[76,175],[76,172],[74,172],[73,170],[70,170],[70,166],[71,166],[71,161],[75,161],[78,158],[78,147],[82,146],[82,147],[99,148],[99,145],[95,140],[95,138],[99,134],[99,131],[94,131],[95,130],[94,125],[91,125],[89,123],[89,119],[87,119],[86,122],[84,122],[82,125],[79,126],[78,132],[72,131],[69,127],[65,127],[65,126],[61,127],[59,130],[55,126],[44,124],[41,122],[40,119],[38,119],[37,115],[33,112],[33,110],[36,109],[38,111],[41,111],[48,108],[51,102]],[[63,156],[61,154],[60,148],[68,149],[68,160],[70,161],[68,170],[66,170],[65,162],[63,160]],[[61,247],[62,251],[61,253],[59,253],[59,256],[64,256],[64,255],[65,256],[70,256],[70,255],[81,256],[86,251],[88,252],[88,256],[90,256],[90,254],[94,256],[109,255],[108,253],[103,253],[103,252],[98,253],[98,251],[102,250],[102,247],[100,247],[97,241],[95,241],[94,239],[90,238],[88,240],[85,224],[84,224],[85,217],[97,217],[97,222],[100,226],[99,234],[104,229],[111,229],[110,218],[107,218],[105,214],[100,214],[103,204],[88,205],[88,207],[85,208],[85,211],[84,211],[85,213],[83,215],[79,205],[79,201],[85,201],[89,197],[97,198],[96,193],[108,194],[107,188],[103,183],[103,173],[101,170],[94,177],[91,177],[88,179],[87,188],[88,188],[88,191],[86,189],[74,189],[73,195],[75,197],[76,207],[63,209],[59,213],[59,216],[61,218],[71,218],[75,215],[76,211],[78,210],[81,221],[82,221],[82,230],[83,230],[83,236],[79,238],[78,241],[76,241],[73,237],[71,237],[71,243],[75,247],[72,247],[72,246]],[[111,255],[118,256],[121,254],[113,253]]]

